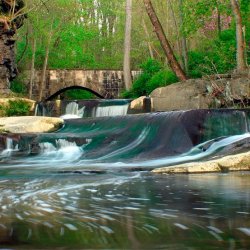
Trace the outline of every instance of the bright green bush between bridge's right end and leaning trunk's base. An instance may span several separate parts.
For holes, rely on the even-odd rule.
[[[178,81],[172,71],[164,69],[158,61],[153,59],[143,63],[141,69],[142,73],[134,81],[131,90],[123,93],[124,98],[137,98],[149,95],[158,87],[167,86]]]

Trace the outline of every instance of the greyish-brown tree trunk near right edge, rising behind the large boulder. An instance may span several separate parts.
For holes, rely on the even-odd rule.
[[[240,6],[237,0],[231,0],[232,10],[236,22],[236,43],[237,43],[237,71],[244,71],[247,68],[245,59],[245,43],[243,35],[242,17],[240,13]]]

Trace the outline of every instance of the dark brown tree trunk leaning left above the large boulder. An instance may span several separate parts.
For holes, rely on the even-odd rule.
[[[166,57],[168,59],[168,64],[170,66],[170,68],[174,71],[174,73],[176,74],[176,76],[179,78],[180,81],[186,81],[187,80],[187,76],[184,73],[184,71],[182,70],[180,64],[178,63],[173,50],[169,44],[169,41],[167,40],[164,30],[162,28],[162,25],[155,13],[155,10],[152,6],[152,3],[150,0],[144,0],[144,5],[146,7],[148,16],[154,26],[156,35],[161,43],[161,46],[166,54]]]

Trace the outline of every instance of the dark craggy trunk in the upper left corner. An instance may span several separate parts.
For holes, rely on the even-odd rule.
[[[0,1],[0,94],[9,92],[9,82],[17,75],[15,34],[26,17],[24,0]]]

